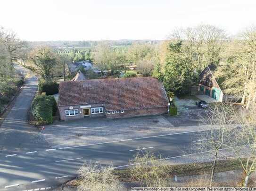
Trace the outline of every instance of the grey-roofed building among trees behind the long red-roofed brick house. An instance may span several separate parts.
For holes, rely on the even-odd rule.
[[[67,66],[72,74],[75,74],[81,67],[85,70],[92,69],[94,73],[100,73],[99,69],[92,65],[91,61],[74,61],[69,63]]]

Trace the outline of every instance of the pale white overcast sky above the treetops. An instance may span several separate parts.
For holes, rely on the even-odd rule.
[[[38,40],[163,40],[212,24],[230,35],[256,25],[256,0],[1,0],[0,26]]]

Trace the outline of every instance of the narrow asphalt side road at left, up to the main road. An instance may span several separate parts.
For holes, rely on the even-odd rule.
[[[15,104],[0,127],[0,154],[33,150],[44,145],[36,128],[27,123],[27,113],[37,90],[37,77],[27,79]]]

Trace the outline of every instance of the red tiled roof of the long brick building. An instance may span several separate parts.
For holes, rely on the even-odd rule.
[[[107,111],[166,107],[163,84],[154,77],[66,81],[59,84],[59,106],[104,104]]]

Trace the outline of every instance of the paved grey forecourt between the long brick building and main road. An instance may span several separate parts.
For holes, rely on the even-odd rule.
[[[124,119],[87,118],[59,122],[45,126],[41,131],[52,148],[92,144],[129,138],[165,135],[207,128],[198,125],[198,118],[190,115],[152,115]]]

